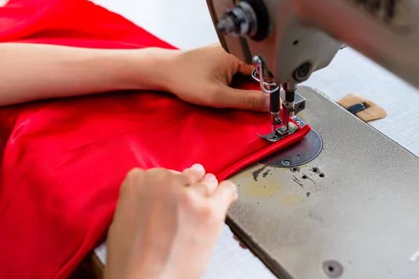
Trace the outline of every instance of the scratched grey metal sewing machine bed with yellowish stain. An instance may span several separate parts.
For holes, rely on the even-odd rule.
[[[419,278],[409,261],[419,249],[419,158],[314,90],[300,93],[323,151],[297,172],[256,164],[233,176],[230,219],[289,278],[326,278],[328,260],[344,266],[342,279]]]

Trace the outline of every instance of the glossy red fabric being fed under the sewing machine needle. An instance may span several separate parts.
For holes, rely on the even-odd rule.
[[[0,41],[173,48],[84,0],[11,0],[0,8]],[[256,136],[269,129],[266,113],[196,107],[148,91],[4,107],[0,123],[1,279],[66,278],[101,241],[133,167],[202,163],[226,179],[310,130],[269,144]]]

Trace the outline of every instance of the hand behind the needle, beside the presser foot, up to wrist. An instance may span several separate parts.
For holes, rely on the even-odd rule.
[[[182,100],[210,107],[266,111],[261,91],[230,87],[235,74],[251,75],[253,66],[228,54],[219,43],[180,52],[173,61],[168,68],[168,88]]]

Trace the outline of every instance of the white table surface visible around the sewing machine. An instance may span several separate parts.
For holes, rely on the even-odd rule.
[[[182,49],[218,41],[205,0],[93,1]],[[348,93],[362,93],[388,112],[385,119],[369,124],[419,156],[418,90],[348,48],[341,50],[328,68],[314,73],[305,84],[332,100],[339,100]],[[105,263],[105,245],[98,247],[96,254]],[[249,251],[240,248],[225,225],[204,278],[274,276]]]

